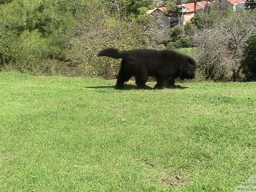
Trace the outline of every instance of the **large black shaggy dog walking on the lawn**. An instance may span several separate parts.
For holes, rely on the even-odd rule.
[[[174,80],[192,79],[195,77],[196,62],[185,54],[173,50],[134,49],[118,51],[116,48],[106,48],[98,56],[122,58],[117,75],[116,88],[122,89],[124,82],[132,76],[136,79],[138,88],[152,89],[146,86],[148,77],[156,78],[155,89],[174,87]]]

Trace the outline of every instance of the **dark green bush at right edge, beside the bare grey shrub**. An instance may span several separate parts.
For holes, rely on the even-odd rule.
[[[246,80],[256,81],[256,31],[247,40],[241,63],[242,73]]]

